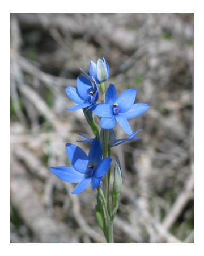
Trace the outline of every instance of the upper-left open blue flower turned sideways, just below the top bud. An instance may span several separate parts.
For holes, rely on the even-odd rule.
[[[93,87],[90,80],[84,76],[77,77],[77,88],[68,86],[65,90],[67,96],[78,103],[78,105],[67,108],[68,110],[83,109],[99,100],[99,90],[97,89],[96,82],[94,81]]]

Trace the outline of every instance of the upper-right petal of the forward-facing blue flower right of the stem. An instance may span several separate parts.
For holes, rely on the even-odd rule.
[[[116,102],[120,107],[120,113],[127,112],[131,108],[131,106],[133,106],[136,92],[137,90],[135,89],[128,89],[122,92],[120,96],[118,96]]]

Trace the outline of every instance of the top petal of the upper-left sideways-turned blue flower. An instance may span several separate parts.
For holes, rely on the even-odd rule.
[[[88,98],[89,98],[87,93],[90,92],[90,90],[94,90],[90,80],[88,80],[84,76],[77,77],[77,89],[80,96],[86,101],[88,101]]]

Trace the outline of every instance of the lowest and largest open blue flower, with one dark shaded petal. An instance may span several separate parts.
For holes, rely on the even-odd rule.
[[[88,156],[80,147],[71,143],[66,144],[66,152],[72,166],[50,167],[50,170],[63,181],[78,183],[72,194],[84,191],[91,181],[95,189],[112,161],[109,157],[102,159],[99,138],[92,141]]]

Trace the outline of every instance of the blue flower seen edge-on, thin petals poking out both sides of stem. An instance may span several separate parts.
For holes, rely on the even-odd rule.
[[[121,143],[124,143],[126,141],[135,141],[135,140],[138,140],[140,139],[140,137],[137,137],[137,138],[133,138],[133,136],[135,134],[138,133],[138,131],[142,131],[142,129],[139,129],[137,131],[135,131],[134,133],[132,133],[131,135],[129,135],[127,138],[125,139],[116,139],[115,138],[115,134],[114,134],[114,130],[113,129],[110,129],[109,130],[109,138],[111,138],[111,147],[115,147],[115,146],[118,146],[119,144]],[[86,136],[84,136],[83,134],[81,133],[78,133],[80,136],[82,136],[84,138],[84,140],[78,140],[77,142],[92,142],[94,141],[94,139],[89,139],[87,138]]]

